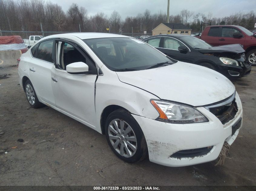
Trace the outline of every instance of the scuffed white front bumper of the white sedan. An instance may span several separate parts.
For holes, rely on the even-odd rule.
[[[204,107],[197,109],[203,113],[209,122],[194,124],[172,124],[159,122],[154,119],[132,115],[140,125],[148,145],[149,160],[157,164],[180,167],[213,161],[218,158],[224,142],[231,145],[236,139],[239,129],[232,136],[232,126],[242,118],[242,106],[236,94],[238,112],[234,119],[226,124]],[[211,147],[207,154],[197,157],[174,158],[177,151]]]

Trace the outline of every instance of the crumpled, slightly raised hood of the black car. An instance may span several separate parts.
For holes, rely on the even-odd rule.
[[[230,45],[223,45],[223,46],[213,46],[209,48],[201,48],[198,49],[201,53],[244,53],[245,50],[241,47],[240,44],[230,44]]]

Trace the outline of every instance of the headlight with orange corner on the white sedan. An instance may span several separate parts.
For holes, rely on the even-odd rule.
[[[208,119],[198,110],[168,101],[151,100],[159,113],[159,119],[168,123],[202,123]]]

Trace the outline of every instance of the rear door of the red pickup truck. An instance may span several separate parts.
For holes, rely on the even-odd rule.
[[[204,40],[212,46],[218,46],[220,27],[208,27],[204,30],[206,31],[203,32],[201,40]]]

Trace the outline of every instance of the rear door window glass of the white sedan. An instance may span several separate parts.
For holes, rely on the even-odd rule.
[[[53,40],[47,40],[39,44],[36,58],[45,60],[47,62],[53,62],[52,59]]]

